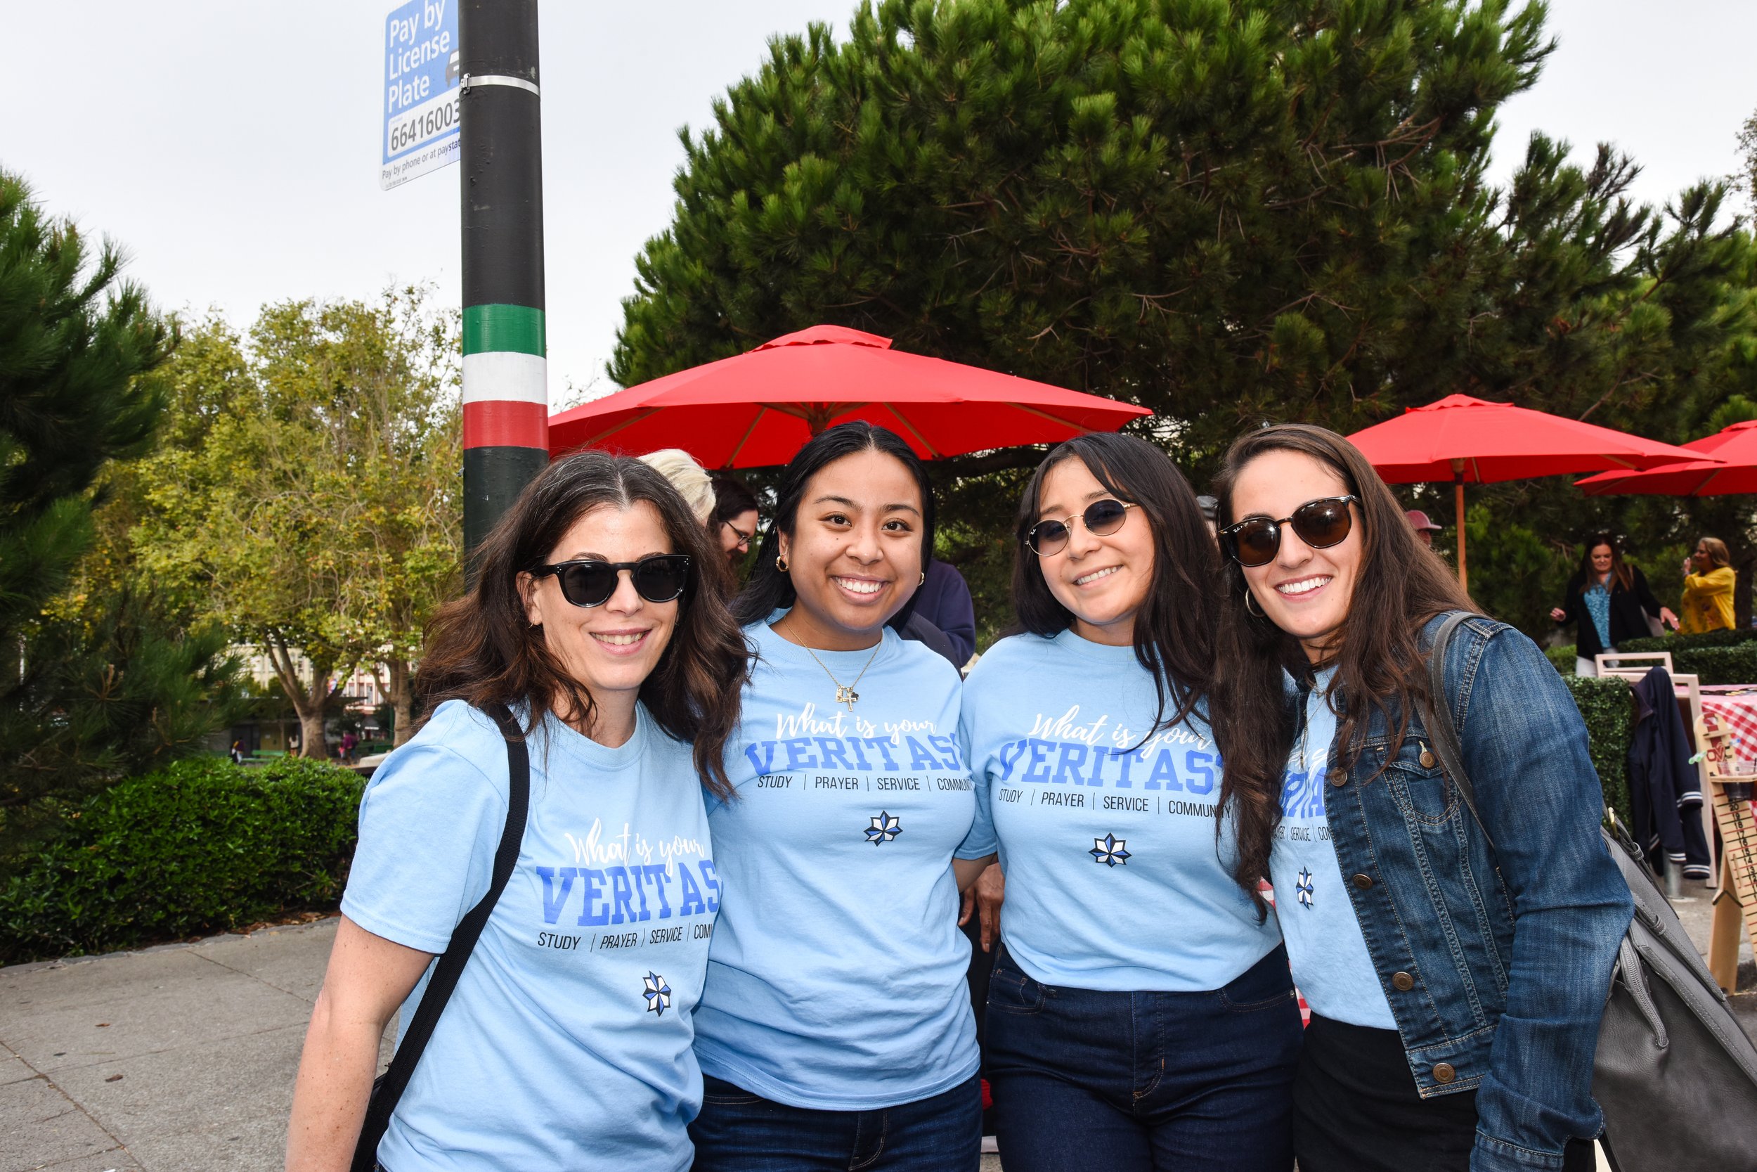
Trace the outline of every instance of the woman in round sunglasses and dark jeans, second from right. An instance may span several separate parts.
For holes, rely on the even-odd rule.
[[[1153,445],[1082,436],[1017,538],[1026,633],[977,662],[963,715],[1007,879],[986,1037],[1007,1172],[1286,1172],[1300,1012],[1214,833],[1202,510]]]

